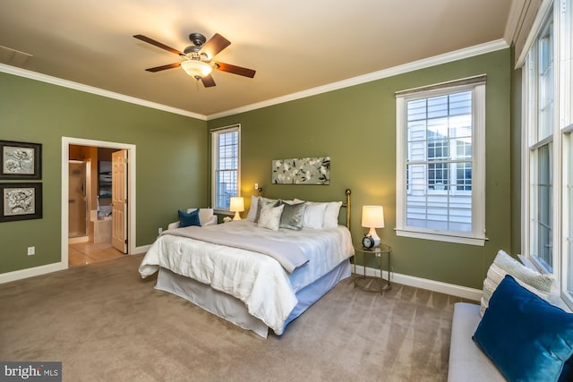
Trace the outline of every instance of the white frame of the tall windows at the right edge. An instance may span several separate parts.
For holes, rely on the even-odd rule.
[[[551,136],[532,140],[535,133],[536,104],[531,101],[528,64],[531,52],[547,22],[553,24],[553,123]],[[522,67],[522,253],[542,272],[548,269],[532,257],[531,183],[535,172],[535,157],[532,151],[547,141],[552,142],[552,274],[560,285],[561,300],[573,309],[573,0],[543,0],[526,40],[516,67]],[[535,89],[534,89],[535,90]],[[534,206],[535,207],[535,206]]]

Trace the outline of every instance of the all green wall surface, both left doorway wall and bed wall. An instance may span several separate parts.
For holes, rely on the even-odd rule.
[[[137,148],[137,240],[153,242],[158,226],[176,219],[176,209],[209,204],[210,144],[207,128],[242,124],[241,192],[253,183],[276,198],[344,199],[352,190],[352,234],[357,242],[365,204],[384,206],[382,240],[393,247],[399,274],[481,289],[497,250],[518,244],[518,73],[510,49],[407,72],[209,121],[136,106],[81,91],[0,73],[0,140],[43,144],[44,217],[0,224],[0,273],[60,259],[62,136],[133,144]],[[398,237],[396,224],[396,102],[394,92],[477,74],[487,74],[486,229],[484,247]],[[512,77],[513,76],[513,77]],[[517,102],[518,103],[518,102]],[[515,115],[515,114],[514,114]],[[513,127],[513,128],[510,128]],[[331,158],[328,186],[271,184],[272,159]],[[518,170],[517,170],[518,171]],[[248,199],[247,199],[248,200]],[[247,206],[248,208],[248,206]],[[513,225],[513,229],[512,229]],[[513,234],[512,234],[513,232]],[[26,248],[36,246],[36,255]],[[517,250],[517,249],[515,249]]]

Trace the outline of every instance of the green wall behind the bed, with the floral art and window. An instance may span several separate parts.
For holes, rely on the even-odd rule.
[[[384,206],[381,238],[393,247],[399,274],[481,289],[497,250],[511,253],[510,50],[440,64],[379,81],[209,121],[210,129],[241,123],[241,191],[253,183],[269,198],[344,199],[352,190],[352,234],[365,229],[361,208]],[[484,247],[398,237],[396,226],[396,101],[394,93],[487,74],[486,229]],[[272,159],[329,156],[328,186],[271,184]],[[248,207],[247,207],[248,208]]]

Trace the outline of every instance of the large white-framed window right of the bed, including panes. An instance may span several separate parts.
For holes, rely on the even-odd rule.
[[[485,76],[397,93],[397,234],[483,245]]]

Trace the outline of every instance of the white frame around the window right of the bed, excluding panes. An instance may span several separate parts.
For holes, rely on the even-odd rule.
[[[440,95],[471,90],[472,96],[472,231],[432,230],[406,225],[407,158],[407,102],[417,98],[431,98]],[[397,115],[397,182],[396,182],[396,234],[398,236],[440,242],[457,242],[483,246],[485,237],[485,75],[458,81],[449,81],[429,87],[408,89],[396,93]],[[469,192],[469,191],[459,191]]]

